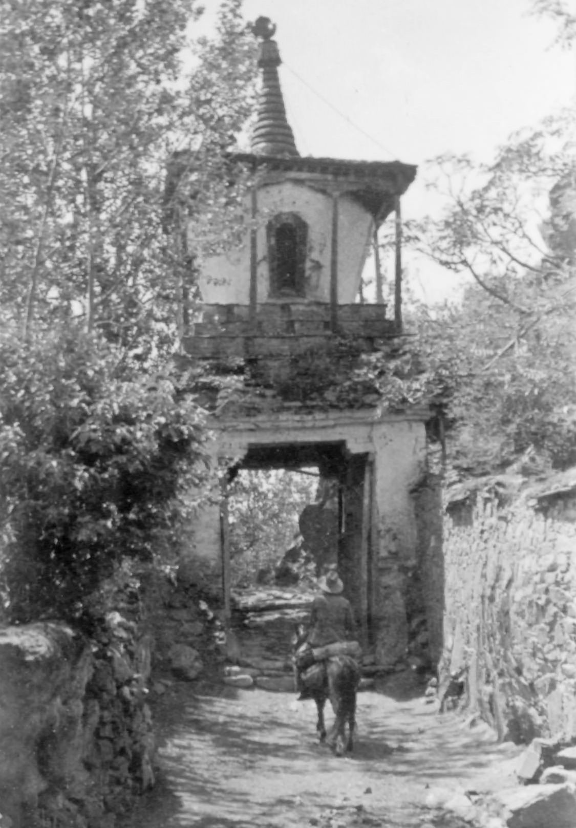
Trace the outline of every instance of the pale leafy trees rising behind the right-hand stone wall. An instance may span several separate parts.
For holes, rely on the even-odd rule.
[[[383,404],[439,407],[452,426],[449,459],[468,473],[522,455],[535,469],[576,462],[575,119],[546,118],[489,165],[430,164],[445,209],[406,237],[467,286],[461,301],[413,303],[410,336],[365,360]]]

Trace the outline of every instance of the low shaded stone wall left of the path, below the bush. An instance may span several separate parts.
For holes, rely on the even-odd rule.
[[[2,828],[112,828],[153,783],[151,641],[118,612],[88,639],[0,630]]]

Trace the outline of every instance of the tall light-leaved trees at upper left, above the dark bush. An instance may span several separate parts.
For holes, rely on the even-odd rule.
[[[239,195],[223,151],[250,112],[256,71],[240,0],[223,2],[188,78],[196,0],[0,6],[0,299],[26,335],[35,320],[82,318],[122,344],[167,346],[190,279],[179,239],[162,232],[170,155],[187,150],[204,171],[200,252]]]

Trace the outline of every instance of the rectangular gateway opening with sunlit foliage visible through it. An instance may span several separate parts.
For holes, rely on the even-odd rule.
[[[267,607],[286,604],[286,591],[311,600],[319,575],[338,567],[359,637],[370,643],[372,498],[372,460],[343,441],[249,446],[228,483],[223,560],[232,604],[252,611],[262,594]]]

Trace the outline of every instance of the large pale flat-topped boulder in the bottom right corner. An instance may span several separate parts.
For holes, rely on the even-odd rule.
[[[508,828],[574,828],[576,793],[564,785],[509,788],[492,797]]]

